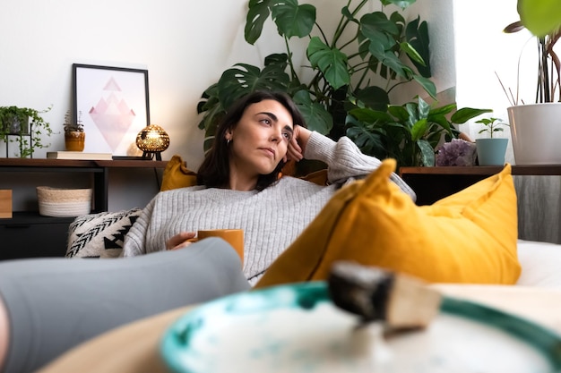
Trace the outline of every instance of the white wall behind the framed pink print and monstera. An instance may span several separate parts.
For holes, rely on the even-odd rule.
[[[324,0],[312,3],[318,14],[331,9],[323,6]],[[203,89],[232,64],[261,64],[265,55],[284,51],[271,22],[267,37],[256,47],[246,44],[246,4],[247,0],[2,0],[0,106],[43,109],[52,104],[44,116],[60,133],[47,140],[47,150],[63,149],[62,123],[73,105],[73,63],[147,69],[151,123],[160,124],[171,138],[163,157],[179,154],[196,169],[203,160],[203,131],[197,128],[196,114]],[[419,0],[415,7],[429,21],[438,90],[449,89],[455,84],[449,53],[452,5],[447,0]],[[328,17],[338,20],[339,3],[332,9],[336,14]],[[404,100],[413,96],[405,93]],[[34,157],[44,154],[39,150]],[[156,191],[148,188],[132,200],[127,193],[131,186],[122,182],[126,181],[110,185],[109,209],[142,206]],[[134,183],[134,188],[143,186]]]

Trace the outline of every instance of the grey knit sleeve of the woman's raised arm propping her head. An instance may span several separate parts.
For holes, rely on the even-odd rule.
[[[348,137],[343,136],[337,142],[313,131],[306,144],[306,159],[315,159],[327,164],[329,182],[341,183],[350,178],[360,178],[373,172],[382,163],[376,157],[363,154],[357,145]],[[411,199],[417,195],[398,174],[393,173],[392,182],[409,194]]]

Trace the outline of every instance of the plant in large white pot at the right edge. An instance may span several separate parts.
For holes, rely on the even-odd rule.
[[[537,76],[534,104],[520,99],[519,87],[515,95],[505,89],[511,104],[507,112],[514,159],[517,165],[561,164],[557,145],[561,135],[561,62],[554,50],[561,37],[561,13],[558,4],[544,0],[519,0],[517,10],[521,21],[508,25],[505,32],[530,28],[538,46],[538,71],[531,72]]]

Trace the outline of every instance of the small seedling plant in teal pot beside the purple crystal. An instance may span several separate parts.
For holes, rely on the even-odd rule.
[[[508,139],[493,137],[496,132],[504,131],[504,126],[510,124],[503,122],[499,118],[483,118],[476,121],[483,124],[483,129],[478,133],[489,133],[488,139],[476,139],[479,165],[505,165],[506,145]]]

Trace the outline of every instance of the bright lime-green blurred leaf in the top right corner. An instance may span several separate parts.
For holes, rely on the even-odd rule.
[[[518,0],[518,13],[526,29],[538,37],[561,27],[559,0]]]

